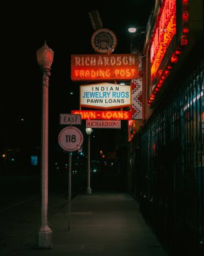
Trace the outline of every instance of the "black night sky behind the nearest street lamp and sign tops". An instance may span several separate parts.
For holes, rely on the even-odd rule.
[[[79,86],[70,80],[70,55],[95,54],[89,11],[99,10],[103,28],[117,36],[114,53],[130,53],[129,26],[145,27],[152,0],[28,1],[1,7],[1,151],[40,145],[42,73],[36,51],[54,51],[49,86],[50,139],[58,137],[60,113],[79,109]],[[70,92],[74,94],[70,96]],[[24,121],[21,121],[24,119]],[[56,136],[56,138],[55,138]]]

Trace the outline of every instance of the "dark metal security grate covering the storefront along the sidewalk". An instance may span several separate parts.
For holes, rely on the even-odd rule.
[[[179,79],[140,135],[141,212],[172,254],[204,245],[203,70]]]

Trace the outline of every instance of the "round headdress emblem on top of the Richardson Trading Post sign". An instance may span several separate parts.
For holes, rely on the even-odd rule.
[[[98,53],[113,53],[117,45],[117,38],[113,31],[101,28],[91,36],[91,44]]]

